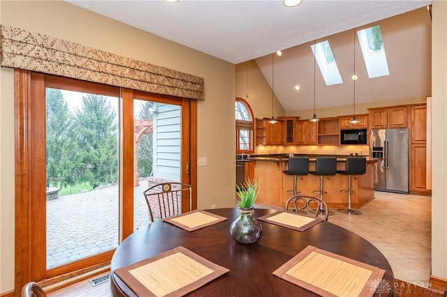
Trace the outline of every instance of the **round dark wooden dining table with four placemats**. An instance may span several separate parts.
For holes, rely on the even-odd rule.
[[[230,235],[230,224],[238,208],[207,210],[228,220],[196,231],[186,231],[158,220],[127,237],[117,248],[110,264],[112,296],[136,296],[114,273],[115,269],[182,246],[230,271],[186,296],[318,296],[272,274],[307,246],[332,252],[386,271],[385,286],[374,296],[392,296],[394,276],[383,254],[364,238],[330,222],[320,222],[305,231],[295,231],[261,222],[258,242],[241,245]],[[274,213],[255,209],[255,217]],[[386,236],[386,234],[383,234]]]

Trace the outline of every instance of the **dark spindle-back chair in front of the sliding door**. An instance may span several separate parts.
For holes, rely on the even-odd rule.
[[[182,213],[182,197],[187,195],[191,211],[191,185],[186,183],[157,183],[143,192],[145,195],[149,218],[168,218]]]

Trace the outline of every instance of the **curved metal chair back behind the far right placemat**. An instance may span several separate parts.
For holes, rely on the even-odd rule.
[[[292,196],[286,202],[286,211],[289,211],[289,208],[291,208],[291,211],[293,212],[304,211],[307,213],[307,211],[309,211],[314,213],[315,217],[318,217],[318,215],[321,214],[322,218],[325,221],[328,221],[328,205],[320,198],[305,195]],[[321,209],[323,211],[321,211]]]

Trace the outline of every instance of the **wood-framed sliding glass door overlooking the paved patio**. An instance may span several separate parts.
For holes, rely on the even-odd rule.
[[[16,204],[30,206],[16,222],[29,236],[16,243],[24,278],[107,264],[149,223],[142,191],[151,181],[195,186],[189,100],[20,70],[16,78]]]

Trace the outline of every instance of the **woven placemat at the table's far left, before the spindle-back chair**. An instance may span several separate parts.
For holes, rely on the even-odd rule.
[[[186,231],[196,231],[198,229],[211,226],[228,220],[221,215],[208,213],[207,211],[190,211],[189,213],[182,213],[173,217],[164,218],[163,221],[174,224],[177,227],[185,229]]]

